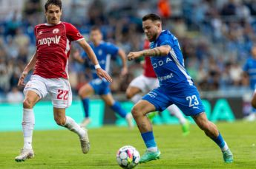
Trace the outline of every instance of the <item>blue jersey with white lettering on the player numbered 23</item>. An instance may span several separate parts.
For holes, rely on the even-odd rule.
[[[177,38],[168,30],[163,30],[157,40],[151,42],[151,48],[163,45],[171,46],[171,52],[166,56],[151,57],[151,63],[154,72],[157,74],[160,86],[193,85],[193,81],[184,66],[180,44]]]

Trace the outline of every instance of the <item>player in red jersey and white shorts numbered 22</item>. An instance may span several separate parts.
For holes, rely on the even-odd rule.
[[[47,94],[50,95],[53,103],[56,123],[78,134],[84,154],[87,154],[90,149],[87,130],[80,128],[71,117],[65,116],[65,108],[68,108],[72,102],[72,93],[68,82],[68,56],[71,41],[76,41],[82,46],[95,65],[97,75],[111,81],[108,73],[100,68],[96,55],[85,38],[72,24],[60,21],[61,15],[61,0],[48,0],[45,3],[47,23],[36,25],[34,30],[36,52],[19,79],[18,86],[24,86],[24,77],[35,67],[30,81],[24,87],[22,120],[24,147],[19,156],[15,158],[17,162],[34,156],[32,148],[33,126],[35,124],[33,106]]]

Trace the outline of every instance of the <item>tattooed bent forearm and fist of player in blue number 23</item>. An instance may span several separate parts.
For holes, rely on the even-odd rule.
[[[168,55],[171,51],[171,46],[163,45],[159,47],[155,47],[153,49],[146,49],[139,52],[130,52],[128,54],[128,61],[134,60],[136,58],[140,58],[142,56],[152,56],[152,57],[159,57]]]

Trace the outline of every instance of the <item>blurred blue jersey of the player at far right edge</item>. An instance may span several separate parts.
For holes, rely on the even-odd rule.
[[[250,79],[251,89],[256,89],[256,59],[248,58],[245,65],[243,66],[243,71],[247,72]]]

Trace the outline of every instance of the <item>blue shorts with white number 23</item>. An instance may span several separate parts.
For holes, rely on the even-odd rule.
[[[205,111],[200,94],[194,85],[171,89],[160,86],[142,97],[142,100],[153,104],[157,111],[163,111],[171,104],[178,106],[186,116],[194,116]]]

